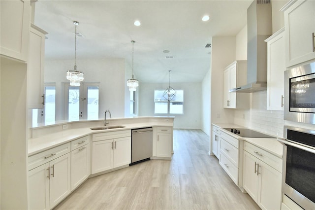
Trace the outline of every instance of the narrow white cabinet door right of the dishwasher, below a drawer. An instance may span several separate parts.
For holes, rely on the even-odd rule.
[[[157,141],[157,156],[158,157],[171,157],[172,156],[172,145],[171,145],[171,134],[158,133]]]

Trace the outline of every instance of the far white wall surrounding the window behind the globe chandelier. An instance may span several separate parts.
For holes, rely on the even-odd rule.
[[[164,90],[168,83],[141,83],[139,85],[138,116],[165,116],[154,114],[154,90]],[[184,114],[175,116],[174,128],[201,129],[201,83],[171,83],[175,90],[184,90]]]

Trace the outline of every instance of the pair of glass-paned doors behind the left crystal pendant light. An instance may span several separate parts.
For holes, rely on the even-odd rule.
[[[65,84],[66,110],[69,121],[79,119],[97,120],[99,102],[99,84],[81,83],[80,87]]]

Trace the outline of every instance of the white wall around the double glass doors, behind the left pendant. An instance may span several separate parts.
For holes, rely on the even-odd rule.
[[[56,83],[56,120],[63,120],[63,86],[67,70],[73,70],[73,60],[46,60],[45,82]],[[77,60],[77,70],[84,73],[84,81],[99,82],[99,118],[109,109],[113,118],[125,117],[126,92],[125,59]]]

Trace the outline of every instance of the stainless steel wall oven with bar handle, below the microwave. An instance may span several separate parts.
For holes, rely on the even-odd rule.
[[[283,193],[303,209],[315,209],[315,131],[284,126]]]

